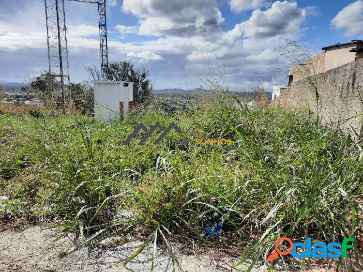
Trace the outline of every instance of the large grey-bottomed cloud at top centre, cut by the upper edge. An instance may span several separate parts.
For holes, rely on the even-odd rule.
[[[208,36],[224,21],[214,0],[124,0],[122,8],[139,17],[142,35]]]

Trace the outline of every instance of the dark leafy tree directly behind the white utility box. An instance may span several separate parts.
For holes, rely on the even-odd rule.
[[[87,66],[86,70],[93,80],[100,79],[100,72],[96,66]],[[149,77],[149,71],[145,67],[135,68],[134,63],[130,60],[115,61],[108,65],[109,78],[115,81],[134,82],[134,103],[139,104],[147,100],[152,92],[152,83]]]

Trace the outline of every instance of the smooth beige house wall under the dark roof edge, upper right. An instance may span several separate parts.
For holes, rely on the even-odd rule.
[[[347,45],[343,48],[331,48],[325,52],[325,71],[339,67],[355,60],[356,53],[349,52],[350,49],[356,46]]]

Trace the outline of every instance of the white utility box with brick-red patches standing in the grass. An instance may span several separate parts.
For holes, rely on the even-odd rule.
[[[94,116],[106,121],[123,119],[134,106],[133,82],[95,80]]]

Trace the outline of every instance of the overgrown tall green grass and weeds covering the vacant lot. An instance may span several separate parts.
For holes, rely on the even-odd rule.
[[[195,135],[169,133],[159,145],[150,139],[138,146],[140,133],[121,145],[135,125],[156,121],[174,121],[183,131],[201,133],[197,137],[230,138],[233,144],[195,145]],[[0,115],[0,126],[7,158],[1,190],[14,200],[10,184],[29,187],[28,210],[61,218],[52,227],[62,227],[59,238],[78,233],[82,242],[75,250],[137,227],[145,242],[124,264],[150,243],[153,270],[156,245],[164,244],[181,269],[170,238],[220,247],[204,228],[222,222],[220,235],[234,237],[229,243],[244,252],[236,265],[251,259],[251,270],[261,263],[272,267],[266,259],[279,237],[341,242],[362,236],[362,140],[317,124],[303,110],[250,109],[221,95],[173,114],[144,106],[125,121]],[[191,141],[177,144],[177,137]],[[31,174],[36,185],[29,184]],[[336,262],[346,266],[345,259]],[[300,265],[292,261],[287,267]]]

